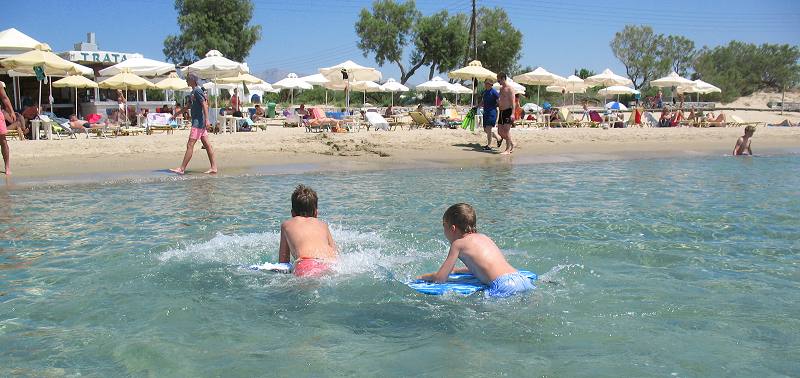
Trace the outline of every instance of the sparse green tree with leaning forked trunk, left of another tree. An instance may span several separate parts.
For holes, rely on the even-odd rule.
[[[356,34],[360,38],[358,48],[366,57],[375,55],[375,62],[397,64],[400,68],[400,83],[405,84],[428,57],[422,54],[416,64],[409,68],[403,64],[403,50],[412,41],[414,23],[419,18],[414,0],[398,3],[394,0],[375,0],[372,12],[364,8],[356,21]]]

